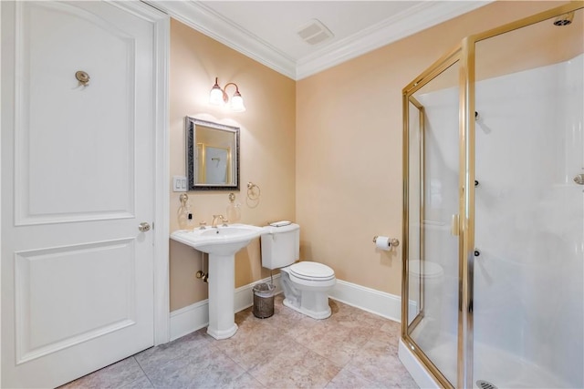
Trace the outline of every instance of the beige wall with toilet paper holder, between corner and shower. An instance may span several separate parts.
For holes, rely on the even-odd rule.
[[[401,89],[464,36],[565,2],[495,2],[297,82],[302,255],[339,280],[401,294]]]

